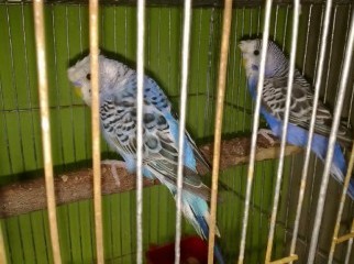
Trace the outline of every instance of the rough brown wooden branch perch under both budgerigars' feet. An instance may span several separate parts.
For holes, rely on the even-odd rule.
[[[244,164],[248,161],[251,141],[248,138],[226,140],[221,145],[220,168]],[[212,143],[200,147],[206,157],[212,161]],[[258,136],[256,161],[276,158],[279,155],[279,144],[270,146],[267,140]],[[301,148],[288,145],[286,155],[300,152]],[[198,164],[200,174],[207,174],[206,169]],[[128,174],[118,168],[120,187],[111,175],[110,166],[102,165],[102,194],[109,195],[135,189],[135,175]],[[158,180],[144,179],[144,187],[159,184]],[[62,174],[55,177],[55,193],[57,205],[92,198],[92,170],[84,168],[77,172]],[[35,178],[19,182],[0,187],[0,218],[19,216],[46,208],[44,178]]]

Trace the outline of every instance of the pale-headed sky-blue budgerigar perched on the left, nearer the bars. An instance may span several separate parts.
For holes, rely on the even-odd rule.
[[[91,105],[90,58],[85,57],[68,69],[69,80]],[[100,123],[108,144],[124,160],[130,173],[136,169],[136,72],[126,65],[99,56]],[[178,120],[158,85],[144,77],[143,175],[157,178],[174,197],[177,193]],[[184,156],[182,212],[199,235],[208,239],[210,189],[203,185],[196,165],[209,166],[186,132]],[[157,205],[156,205],[157,206]],[[172,209],[173,210],[173,209]],[[219,235],[219,231],[217,231]],[[214,248],[219,263],[221,252]]]

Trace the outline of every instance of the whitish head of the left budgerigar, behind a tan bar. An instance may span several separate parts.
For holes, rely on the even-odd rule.
[[[90,56],[86,56],[68,69],[68,78],[86,105],[91,106]],[[126,66],[99,55],[99,89],[112,89],[126,74]]]

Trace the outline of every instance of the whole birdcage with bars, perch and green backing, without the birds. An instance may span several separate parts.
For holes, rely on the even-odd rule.
[[[353,18],[350,0],[1,0],[0,262],[153,263],[166,244],[185,261],[196,231],[168,189],[140,169],[118,169],[118,184],[100,165],[120,156],[98,133],[99,47],[137,69],[140,99],[143,74],[156,80],[212,164],[200,174],[225,263],[353,263],[351,147],[344,187],[329,167],[339,124],[353,122]],[[332,110],[328,160],[257,134],[267,123],[239,48],[255,37],[277,43]],[[90,51],[92,114],[67,77]]]

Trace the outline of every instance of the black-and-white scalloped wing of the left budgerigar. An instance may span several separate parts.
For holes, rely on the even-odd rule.
[[[133,84],[133,85],[132,85]],[[178,122],[169,113],[170,103],[157,85],[145,78],[143,112],[143,165],[158,179],[177,184]],[[136,82],[114,89],[101,99],[101,125],[106,136],[124,157],[136,160]],[[190,148],[185,140],[185,154]],[[191,154],[192,152],[189,152]],[[191,157],[193,158],[193,157]],[[184,189],[210,199],[209,188],[202,184],[193,167],[184,166]]]

